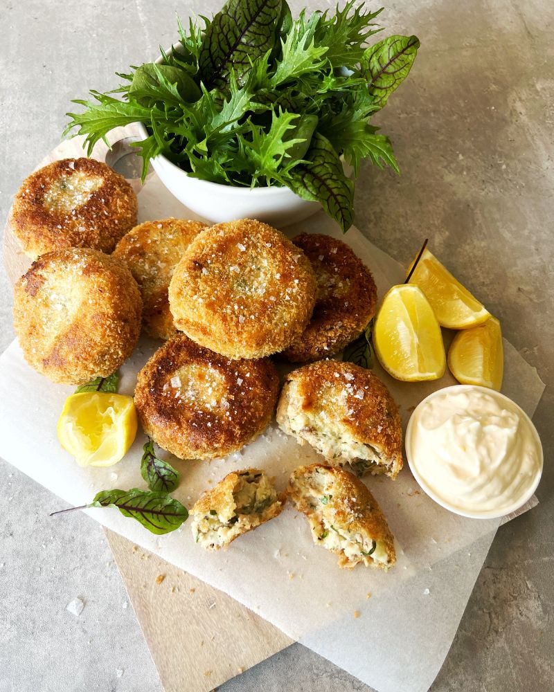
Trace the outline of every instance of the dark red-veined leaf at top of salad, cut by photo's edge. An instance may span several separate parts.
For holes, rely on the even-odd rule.
[[[208,89],[224,89],[231,71],[239,82],[258,57],[275,44],[281,0],[228,0],[206,29],[199,55],[200,77]]]

